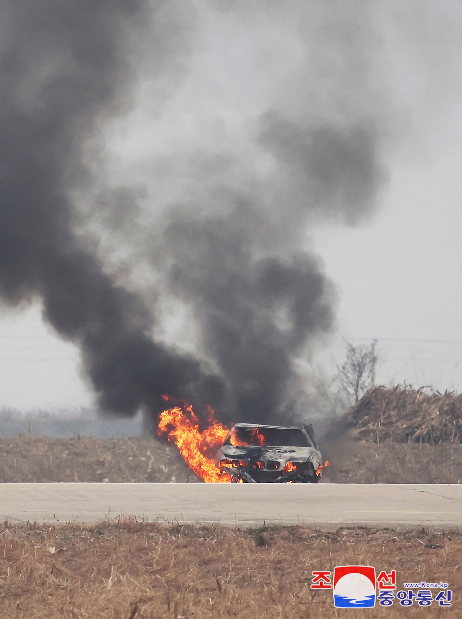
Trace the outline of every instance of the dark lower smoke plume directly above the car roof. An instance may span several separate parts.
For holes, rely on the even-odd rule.
[[[228,219],[182,219],[163,241],[173,248],[170,285],[195,308],[207,353],[227,384],[221,416],[275,421],[294,357],[333,324],[331,285],[309,254],[254,256],[252,209]],[[263,225],[263,224],[262,224]]]

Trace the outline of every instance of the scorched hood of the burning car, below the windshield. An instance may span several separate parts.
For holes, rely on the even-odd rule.
[[[320,452],[313,447],[247,447],[223,445],[216,457],[217,463],[223,458],[235,458],[239,460],[276,460],[285,462],[305,462],[311,460],[315,468],[320,464]]]

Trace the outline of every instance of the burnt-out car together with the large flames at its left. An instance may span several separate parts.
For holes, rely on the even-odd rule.
[[[329,465],[321,465],[311,424],[285,428],[237,423],[230,429],[209,409],[209,425],[201,430],[192,405],[162,397],[173,406],[159,414],[157,434],[167,435],[206,483],[317,483]]]

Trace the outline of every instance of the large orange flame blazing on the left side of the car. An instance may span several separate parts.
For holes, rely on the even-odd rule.
[[[168,396],[162,396],[170,400]],[[171,401],[171,400],[170,400]],[[211,425],[204,431],[199,431],[199,420],[194,415],[193,407],[185,402],[178,403],[172,409],[160,413],[157,434],[167,434],[168,440],[175,443],[186,464],[207,483],[226,483],[231,478],[225,472],[217,469],[215,462],[206,456],[223,443],[229,428],[214,419],[213,410],[209,409]]]

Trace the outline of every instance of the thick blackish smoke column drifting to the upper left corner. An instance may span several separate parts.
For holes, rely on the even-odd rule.
[[[131,103],[130,50],[144,0],[1,4],[0,294],[40,298],[43,316],[81,347],[105,410],[158,410],[161,395],[217,402],[220,379],[152,340],[141,297],[116,285],[74,232],[73,192],[92,184],[90,139]],[[87,149],[87,150],[85,150]]]

